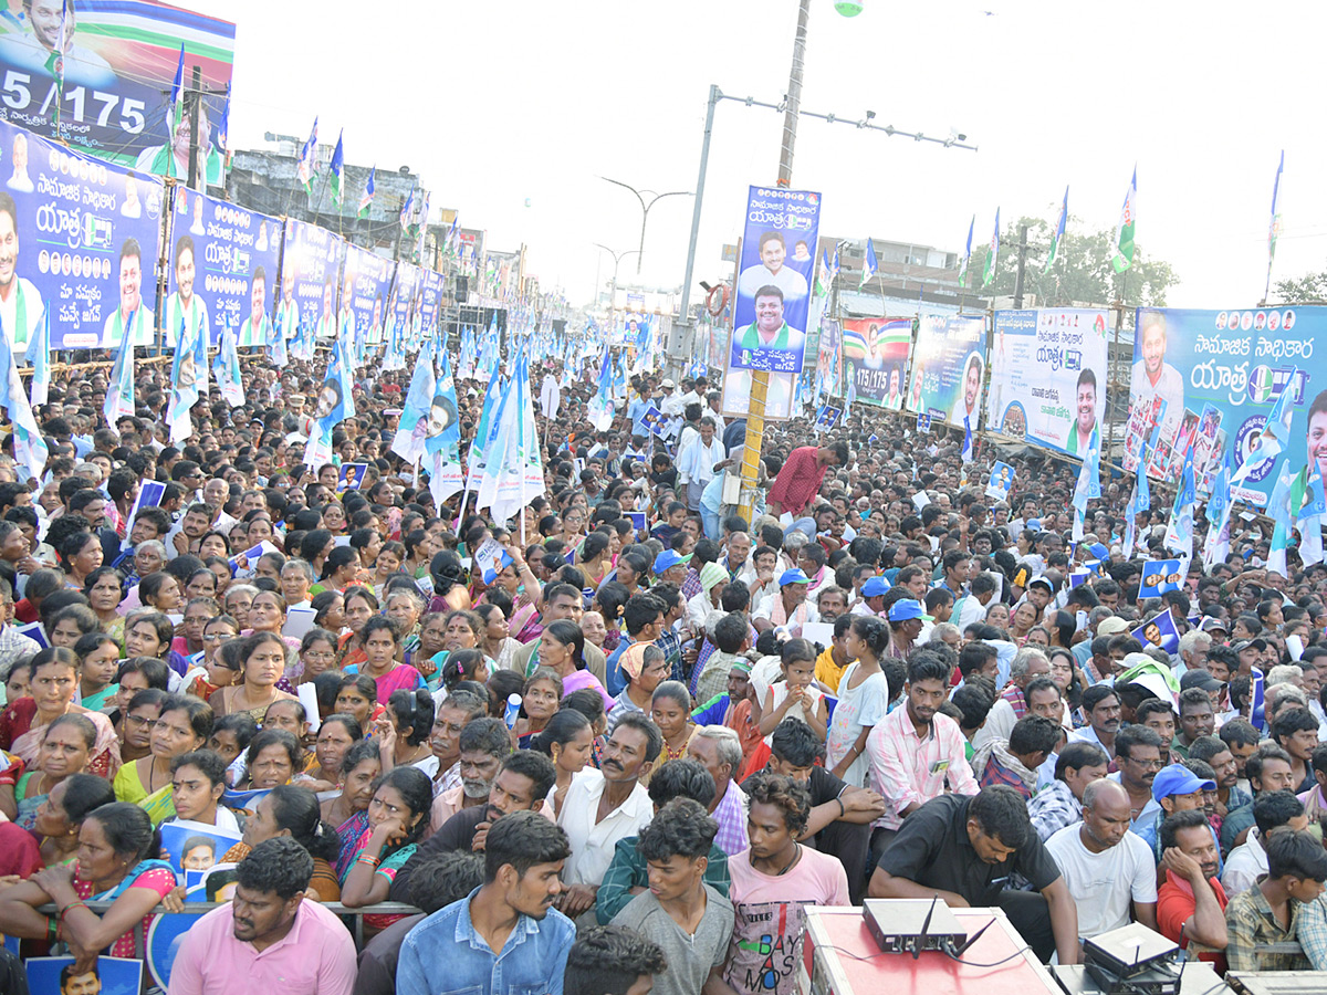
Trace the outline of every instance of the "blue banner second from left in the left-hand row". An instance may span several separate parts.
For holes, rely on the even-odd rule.
[[[240,349],[267,345],[280,255],[276,218],[176,187],[170,296],[162,310],[167,345],[175,344],[180,321],[194,310],[208,329],[210,346],[227,328],[235,329]]]

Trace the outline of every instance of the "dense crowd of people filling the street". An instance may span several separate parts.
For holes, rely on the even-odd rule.
[[[56,374],[42,479],[12,436],[0,462],[24,957],[141,957],[187,899],[183,821],[240,841],[196,865],[231,901],[171,995],[790,995],[805,906],[934,894],[1060,964],[1137,922],[1218,971],[1327,968],[1327,568],[1267,570],[1237,519],[1229,561],[1140,598],[1164,486],[1125,560],[1127,479],[1074,543],[1076,466],[965,462],[861,405],[767,427],[748,521],[744,422],[703,377],[637,374],[598,431],[592,378],[540,373],[545,491],[511,521],[391,451],[407,373],[356,382],[317,466],[320,366],[247,361],[179,447],[163,370],[113,426],[104,373]],[[463,450],[486,386],[459,383]],[[368,910],[361,949],[326,902]]]

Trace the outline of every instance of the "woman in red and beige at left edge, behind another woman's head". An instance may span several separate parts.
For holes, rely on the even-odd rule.
[[[0,747],[11,750],[25,764],[33,764],[41,751],[46,726],[61,715],[85,715],[97,728],[88,756],[88,773],[114,777],[119,769],[119,742],[110,719],[98,711],[74,704],[80,662],[73,650],[53,646],[37,653],[28,663],[31,698],[23,698],[0,715]]]

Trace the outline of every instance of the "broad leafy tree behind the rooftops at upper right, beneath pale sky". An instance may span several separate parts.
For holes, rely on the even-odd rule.
[[[1001,232],[999,257],[995,279],[982,289],[982,271],[989,245],[973,249],[967,267],[967,284],[974,292],[1013,297],[1018,280],[1018,228],[1027,226],[1027,261],[1023,269],[1023,293],[1035,295],[1039,308],[1067,308],[1074,305],[1107,306],[1117,296],[1123,283],[1125,305],[1148,308],[1165,306],[1166,291],[1178,277],[1169,263],[1148,259],[1141,247],[1133,252],[1133,265],[1123,275],[1115,272],[1115,230],[1080,233],[1074,231],[1074,218],[1064,226],[1055,265],[1044,273],[1046,257],[1051,251],[1051,226],[1044,219],[1023,218]]]

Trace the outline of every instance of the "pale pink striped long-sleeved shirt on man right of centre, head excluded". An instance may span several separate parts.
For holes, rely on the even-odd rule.
[[[947,715],[936,715],[926,739],[908,718],[908,706],[901,704],[876,724],[867,736],[867,755],[871,758],[871,787],[885,799],[885,815],[876,825],[897,829],[902,825],[902,811],[908,805],[925,804],[945,792],[975,795],[977,780],[967,765],[963,734],[958,723]]]

